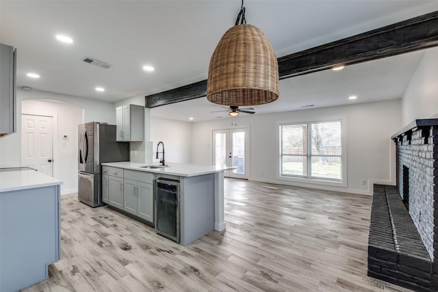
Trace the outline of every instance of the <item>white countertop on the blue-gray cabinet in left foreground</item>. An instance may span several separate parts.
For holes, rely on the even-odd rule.
[[[62,181],[59,179],[35,170],[0,172],[0,193],[61,184]]]

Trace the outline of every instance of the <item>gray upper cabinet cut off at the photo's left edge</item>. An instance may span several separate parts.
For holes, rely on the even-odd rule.
[[[0,137],[16,132],[16,49],[0,44]]]

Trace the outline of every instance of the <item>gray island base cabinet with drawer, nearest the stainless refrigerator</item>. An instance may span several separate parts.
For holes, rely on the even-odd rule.
[[[102,171],[104,172],[103,175],[108,176],[107,204],[123,209],[123,169],[103,166]],[[105,174],[105,171],[107,171],[108,174]],[[102,194],[102,197],[103,196],[104,195]]]

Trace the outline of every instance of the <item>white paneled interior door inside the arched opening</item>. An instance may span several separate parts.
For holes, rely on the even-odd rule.
[[[21,115],[21,164],[53,176],[53,118]]]

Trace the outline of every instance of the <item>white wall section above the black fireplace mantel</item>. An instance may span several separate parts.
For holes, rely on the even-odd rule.
[[[402,98],[403,126],[415,119],[438,118],[438,48],[425,51]]]

